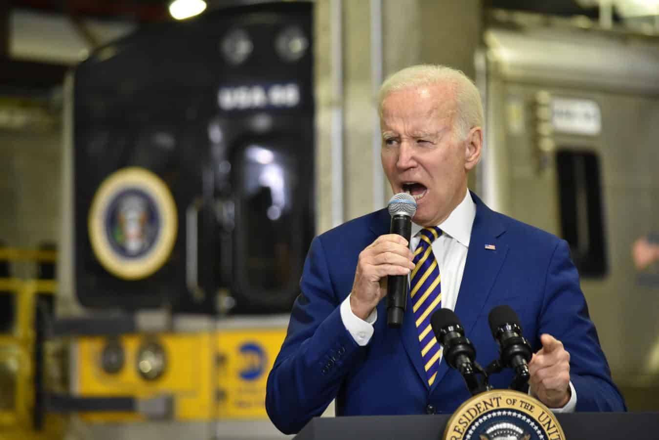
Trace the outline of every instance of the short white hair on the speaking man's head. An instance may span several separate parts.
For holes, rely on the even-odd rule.
[[[483,105],[474,82],[462,71],[443,65],[420,64],[406,67],[388,77],[380,87],[378,110],[382,117],[382,104],[393,92],[419,86],[447,84],[455,96],[457,119],[455,127],[465,139],[473,127],[483,126]]]

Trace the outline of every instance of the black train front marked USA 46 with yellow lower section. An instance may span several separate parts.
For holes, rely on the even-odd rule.
[[[314,234],[311,18],[308,3],[223,9],[76,67],[72,280],[85,315],[55,323],[76,372],[55,410],[203,429],[267,418]]]

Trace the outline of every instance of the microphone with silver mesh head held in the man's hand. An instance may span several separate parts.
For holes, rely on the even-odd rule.
[[[412,218],[416,214],[416,201],[408,193],[398,193],[391,197],[389,204],[391,216],[391,234],[398,234],[410,241]],[[403,325],[403,315],[407,305],[407,275],[387,276],[387,325],[397,329]]]

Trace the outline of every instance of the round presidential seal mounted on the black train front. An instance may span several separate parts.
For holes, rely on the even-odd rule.
[[[94,255],[108,272],[125,280],[146,278],[174,246],[176,204],[158,175],[123,168],[98,187],[88,227]]]

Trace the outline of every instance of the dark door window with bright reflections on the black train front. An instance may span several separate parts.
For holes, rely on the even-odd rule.
[[[298,293],[306,251],[300,166],[290,147],[272,142],[250,143],[239,154],[235,293],[249,308],[286,310]]]

